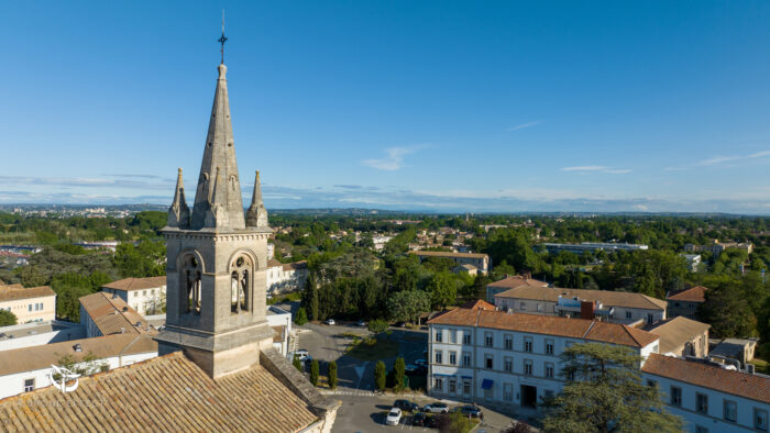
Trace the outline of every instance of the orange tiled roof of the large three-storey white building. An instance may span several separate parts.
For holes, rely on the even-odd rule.
[[[455,308],[454,310],[428,321],[428,324],[509,330],[569,338],[583,338],[631,347],[645,347],[658,340],[657,335],[649,332],[618,323],[540,314],[509,313],[484,309],[470,310]]]

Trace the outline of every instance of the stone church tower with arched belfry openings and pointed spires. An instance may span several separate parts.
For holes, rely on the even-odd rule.
[[[256,174],[246,215],[233,144],[228,68],[219,79],[190,212],[179,169],[166,237],[166,326],[158,352],[183,351],[217,378],[260,362],[272,347],[265,320],[267,237],[272,233]]]

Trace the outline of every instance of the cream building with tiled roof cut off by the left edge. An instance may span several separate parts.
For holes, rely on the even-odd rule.
[[[16,323],[51,321],[56,319],[56,293],[48,286],[0,286],[0,310],[12,312]]]

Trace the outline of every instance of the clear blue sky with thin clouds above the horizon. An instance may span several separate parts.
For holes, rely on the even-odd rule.
[[[0,202],[770,213],[770,2],[0,2]],[[191,201],[191,197],[188,197]]]

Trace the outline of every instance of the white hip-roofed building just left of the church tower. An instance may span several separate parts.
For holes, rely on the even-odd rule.
[[[166,308],[166,277],[124,278],[101,287],[119,296],[142,315],[158,314]]]

